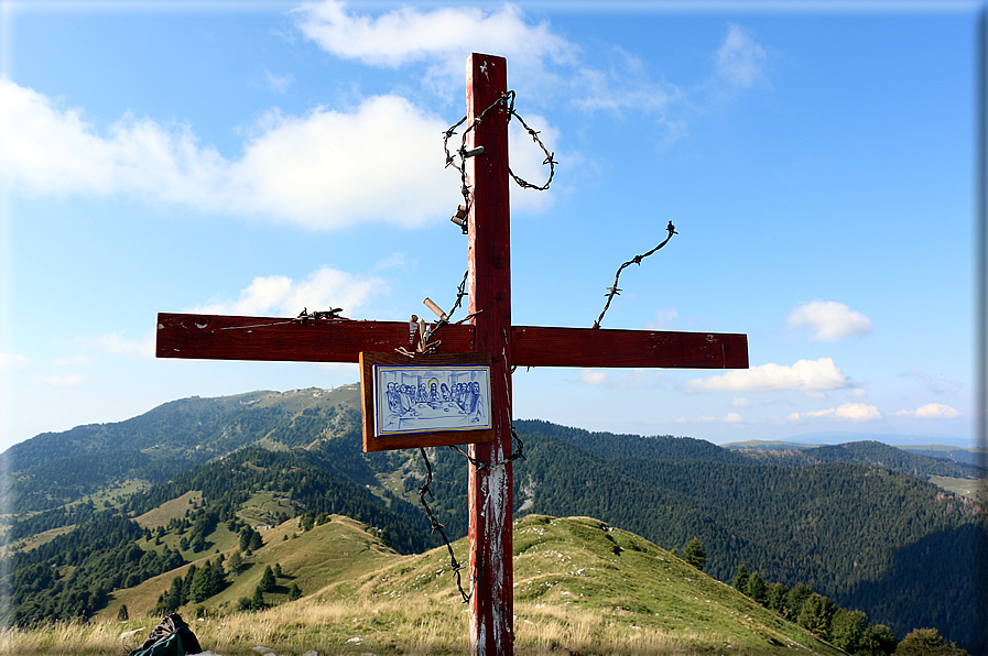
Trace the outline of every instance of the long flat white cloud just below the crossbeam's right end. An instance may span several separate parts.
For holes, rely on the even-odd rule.
[[[703,390],[723,392],[777,392],[795,391],[806,394],[850,387],[847,378],[830,358],[800,360],[792,367],[761,364],[751,369],[738,369],[719,375],[686,381],[687,392]]]

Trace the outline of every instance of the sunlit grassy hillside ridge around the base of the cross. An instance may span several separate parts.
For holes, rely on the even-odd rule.
[[[278,654],[468,652],[467,609],[445,549],[399,556],[366,526],[338,516],[283,539],[294,533],[291,524],[269,531],[252,567],[206,603],[205,621],[192,622],[204,648],[227,656],[253,654],[258,645]],[[454,549],[465,555],[466,540]],[[648,540],[597,520],[519,520],[514,554],[520,655],[843,653]],[[257,614],[221,610],[274,562],[304,582],[305,597]],[[11,656],[118,654],[120,634],[152,627],[155,620],[138,617],[137,609],[166,583],[163,577],[124,591],[104,613],[116,616],[119,603],[127,603],[133,617],[128,622],[98,621],[75,635],[51,628],[7,633],[0,649]],[[194,609],[183,611],[192,620]]]

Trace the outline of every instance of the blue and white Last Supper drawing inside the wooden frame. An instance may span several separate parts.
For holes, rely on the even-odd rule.
[[[373,368],[374,434],[490,428],[490,368],[479,364]]]

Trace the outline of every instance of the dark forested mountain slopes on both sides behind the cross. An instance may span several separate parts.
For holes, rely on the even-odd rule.
[[[936,626],[962,644],[973,639],[970,564],[985,539],[985,512],[924,480],[954,463],[878,442],[766,456],[540,420],[518,420],[515,429],[525,453],[514,463],[518,515],[594,516],[670,549],[696,537],[706,571],[720,580],[745,565],[769,581],[810,586],[900,635]],[[427,453],[428,503],[459,538],[468,525],[466,461],[449,449]],[[2,522],[17,548],[0,584],[17,590],[21,617],[89,612],[115,586],[137,584],[162,562],[193,560],[210,540],[227,539],[225,523],[340,513],[400,551],[439,544],[419,507],[426,473],[419,452],[361,451],[356,386],[187,398],[119,424],[44,434],[3,457],[13,475],[0,492],[17,515]],[[127,479],[154,485],[107,493]],[[193,493],[200,501],[188,516],[160,527],[153,557],[143,553],[154,540],[127,518]],[[79,544],[110,521],[123,522],[116,543]],[[107,562],[135,565],[84,598]],[[28,586],[39,567],[55,578]]]

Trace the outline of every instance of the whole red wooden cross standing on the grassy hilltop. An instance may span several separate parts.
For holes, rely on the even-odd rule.
[[[467,125],[507,91],[506,61],[467,58]],[[470,131],[466,161],[473,190],[468,225],[471,322],[444,325],[443,353],[491,356],[495,439],[470,446],[481,463],[504,463],[512,450],[511,372],[514,367],[747,369],[748,338],[737,334],[605,330],[511,325],[507,108],[490,111]],[[160,314],[158,357],[216,360],[358,362],[361,352],[414,351],[417,326],[355,321]],[[470,464],[470,648],[513,653],[511,463]]]

